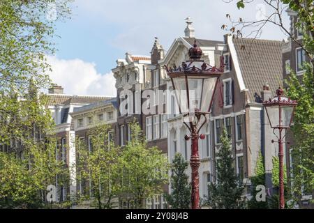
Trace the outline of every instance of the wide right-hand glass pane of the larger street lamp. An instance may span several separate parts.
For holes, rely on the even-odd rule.
[[[217,77],[188,76],[190,112],[209,112]]]

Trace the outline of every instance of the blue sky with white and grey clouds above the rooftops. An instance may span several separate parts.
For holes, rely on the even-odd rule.
[[[237,20],[255,20],[262,8],[270,8],[255,0],[245,10],[238,10],[236,0],[76,0],[71,20],[57,23],[57,54],[49,56],[52,79],[66,93],[115,95],[110,70],[118,58],[130,54],[149,55],[157,36],[167,50],[174,38],[184,36],[185,18],[190,16],[197,38],[223,40],[230,25],[225,15]],[[285,13],[284,13],[285,14]],[[284,22],[289,26],[287,15]],[[244,34],[248,34],[247,31]],[[282,40],[281,30],[265,26],[263,39]],[[75,84],[73,81],[75,79]]]

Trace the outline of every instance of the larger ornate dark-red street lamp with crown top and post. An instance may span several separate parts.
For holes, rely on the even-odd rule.
[[[190,167],[192,169],[192,209],[200,208],[199,174],[200,156],[198,153],[198,139],[204,139],[204,134],[199,134],[202,126],[207,122],[207,114],[211,109],[214,93],[219,77],[223,74],[223,61],[220,59],[220,68],[210,66],[201,60],[202,49],[197,47],[196,40],[188,50],[190,60],[183,62],[178,68],[168,68],[174,93],[179,105],[179,112],[183,114],[183,121],[190,136],[186,135],[186,140],[191,139]]]

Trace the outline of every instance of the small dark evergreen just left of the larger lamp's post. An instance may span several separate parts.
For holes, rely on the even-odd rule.
[[[190,206],[191,187],[185,171],[188,162],[184,160],[181,153],[176,153],[171,165],[171,194],[165,194],[167,203],[174,209],[188,209]]]

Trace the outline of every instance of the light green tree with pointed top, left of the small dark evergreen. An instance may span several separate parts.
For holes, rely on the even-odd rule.
[[[121,199],[134,201],[134,208],[144,208],[144,199],[163,194],[167,183],[167,157],[157,147],[149,148],[138,123],[130,124],[131,140],[119,155],[122,174]]]

